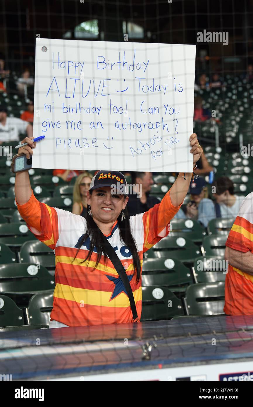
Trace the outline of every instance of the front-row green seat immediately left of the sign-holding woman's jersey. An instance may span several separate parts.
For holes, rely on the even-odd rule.
[[[28,304],[28,324],[50,324],[50,313],[53,308],[53,292],[33,295]]]

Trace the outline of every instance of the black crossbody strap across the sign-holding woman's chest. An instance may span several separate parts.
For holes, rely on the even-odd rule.
[[[133,298],[133,291],[131,289],[129,279],[127,278],[126,270],[124,269],[124,266],[122,265],[120,259],[118,258],[117,254],[115,253],[115,250],[113,249],[113,247],[111,246],[109,241],[106,239],[105,235],[102,232],[101,232],[101,234],[103,236],[103,241],[107,248],[107,253],[109,255],[109,259],[111,260],[111,263],[113,264],[115,270],[117,271],[118,275],[120,276],[122,283],[124,284],[124,287],[126,289],[127,295],[129,297],[130,306],[131,306],[131,310],[133,313],[133,322],[138,322],[139,318],[137,315],[136,306],[135,306],[135,302],[134,302],[134,298]]]

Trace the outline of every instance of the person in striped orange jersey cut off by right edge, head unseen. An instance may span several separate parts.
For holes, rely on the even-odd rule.
[[[225,280],[227,315],[253,315],[253,192],[240,206],[226,242]]]

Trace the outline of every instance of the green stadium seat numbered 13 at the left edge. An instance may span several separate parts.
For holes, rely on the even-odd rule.
[[[42,265],[15,263],[0,265],[0,292],[8,296],[52,291],[55,282]]]

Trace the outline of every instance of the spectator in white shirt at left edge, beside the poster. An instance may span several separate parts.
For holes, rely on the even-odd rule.
[[[2,142],[19,141],[20,134],[26,133],[33,137],[33,126],[17,117],[8,117],[6,106],[0,105],[0,144]]]

